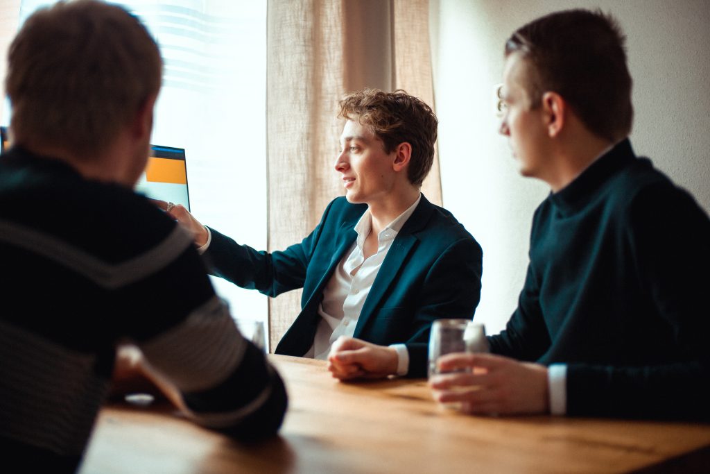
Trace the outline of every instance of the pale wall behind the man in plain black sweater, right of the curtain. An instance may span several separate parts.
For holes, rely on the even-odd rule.
[[[497,134],[493,88],[503,45],[524,23],[577,6],[611,12],[628,36],[636,153],[710,210],[710,2],[706,0],[431,0],[444,206],[484,249],[476,318],[498,333],[528,264],[532,212],[544,183],[522,178]]]

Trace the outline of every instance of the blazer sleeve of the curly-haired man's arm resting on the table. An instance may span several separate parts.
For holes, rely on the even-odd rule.
[[[428,269],[414,317],[415,331],[405,342],[407,377],[426,377],[432,323],[442,318],[471,319],[481,300],[483,252],[472,237],[453,242]]]

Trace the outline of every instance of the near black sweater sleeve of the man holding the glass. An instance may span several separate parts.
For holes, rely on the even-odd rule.
[[[569,364],[568,414],[709,420],[710,220],[690,195],[666,183],[640,193],[626,220],[635,274],[668,323],[676,360]]]

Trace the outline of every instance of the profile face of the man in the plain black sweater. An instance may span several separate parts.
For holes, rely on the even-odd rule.
[[[549,157],[547,129],[542,107],[535,104],[533,109],[530,103],[525,88],[528,74],[528,65],[518,53],[508,56],[503,70],[503,119],[499,131],[508,136],[513,157],[520,163],[520,173],[540,178],[545,174]]]

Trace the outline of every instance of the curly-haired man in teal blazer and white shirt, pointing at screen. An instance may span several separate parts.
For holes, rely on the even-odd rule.
[[[212,274],[268,296],[303,289],[276,353],[325,359],[332,346],[366,345],[386,363],[349,364],[339,378],[423,376],[432,321],[474,316],[481,247],[420,193],[437,136],[430,107],[403,91],[364,90],[342,101],[340,115],[347,121],[335,169],[346,195],[302,242],[258,252],[181,206],[169,212],[195,233]]]

